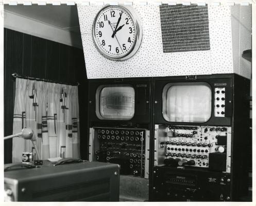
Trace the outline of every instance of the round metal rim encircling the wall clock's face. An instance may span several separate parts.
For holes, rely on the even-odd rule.
[[[134,43],[133,43],[132,47],[130,48],[129,52],[127,52],[125,55],[115,57],[115,56],[107,54],[105,52],[105,50],[100,47],[100,45],[96,39],[97,38],[96,33],[95,33],[96,20],[97,20],[98,16],[107,8],[119,8],[119,9],[124,10],[130,16],[130,18],[134,24],[135,40],[134,40]],[[122,6],[121,5],[118,5],[118,6],[117,5],[106,5],[103,8],[101,8],[94,18],[93,26],[92,26],[92,33],[93,33],[93,42],[94,42],[94,45],[97,48],[98,52],[105,58],[107,58],[109,60],[113,60],[113,61],[124,61],[124,60],[131,58],[138,51],[138,49],[141,45],[141,41],[142,41],[142,27],[141,27],[138,16],[136,15],[136,13],[132,7],[123,6],[123,5]]]

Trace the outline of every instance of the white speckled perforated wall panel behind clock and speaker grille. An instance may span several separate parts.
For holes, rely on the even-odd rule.
[[[230,6],[207,6],[210,50],[164,53],[160,6],[134,4],[142,23],[142,43],[132,58],[122,62],[104,58],[93,43],[92,24],[102,7],[77,5],[89,79],[234,73]]]

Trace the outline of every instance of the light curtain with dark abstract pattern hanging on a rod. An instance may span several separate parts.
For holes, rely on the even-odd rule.
[[[34,131],[41,159],[80,158],[78,88],[71,85],[16,78],[13,134]],[[31,141],[13,138],[12,162],[22,152],[36,156]]]

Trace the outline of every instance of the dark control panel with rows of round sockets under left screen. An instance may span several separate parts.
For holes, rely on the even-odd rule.
[[[89,160],[121,165],[122,175],[148,178],[149,131],[90,128]]]

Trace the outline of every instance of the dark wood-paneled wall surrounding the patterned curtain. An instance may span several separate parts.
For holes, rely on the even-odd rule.
[[[87,131],[87,76],[83,50],[57,42],[4,29],[4,135],[12,134],[15,79],[18,73],[30,77],[59,82],[79,82],[79,116],[81,157],[88,157]],[[81,129],[82,128],[82,129]],[[4,161],[11,163],[12,140],[4,145]]]

